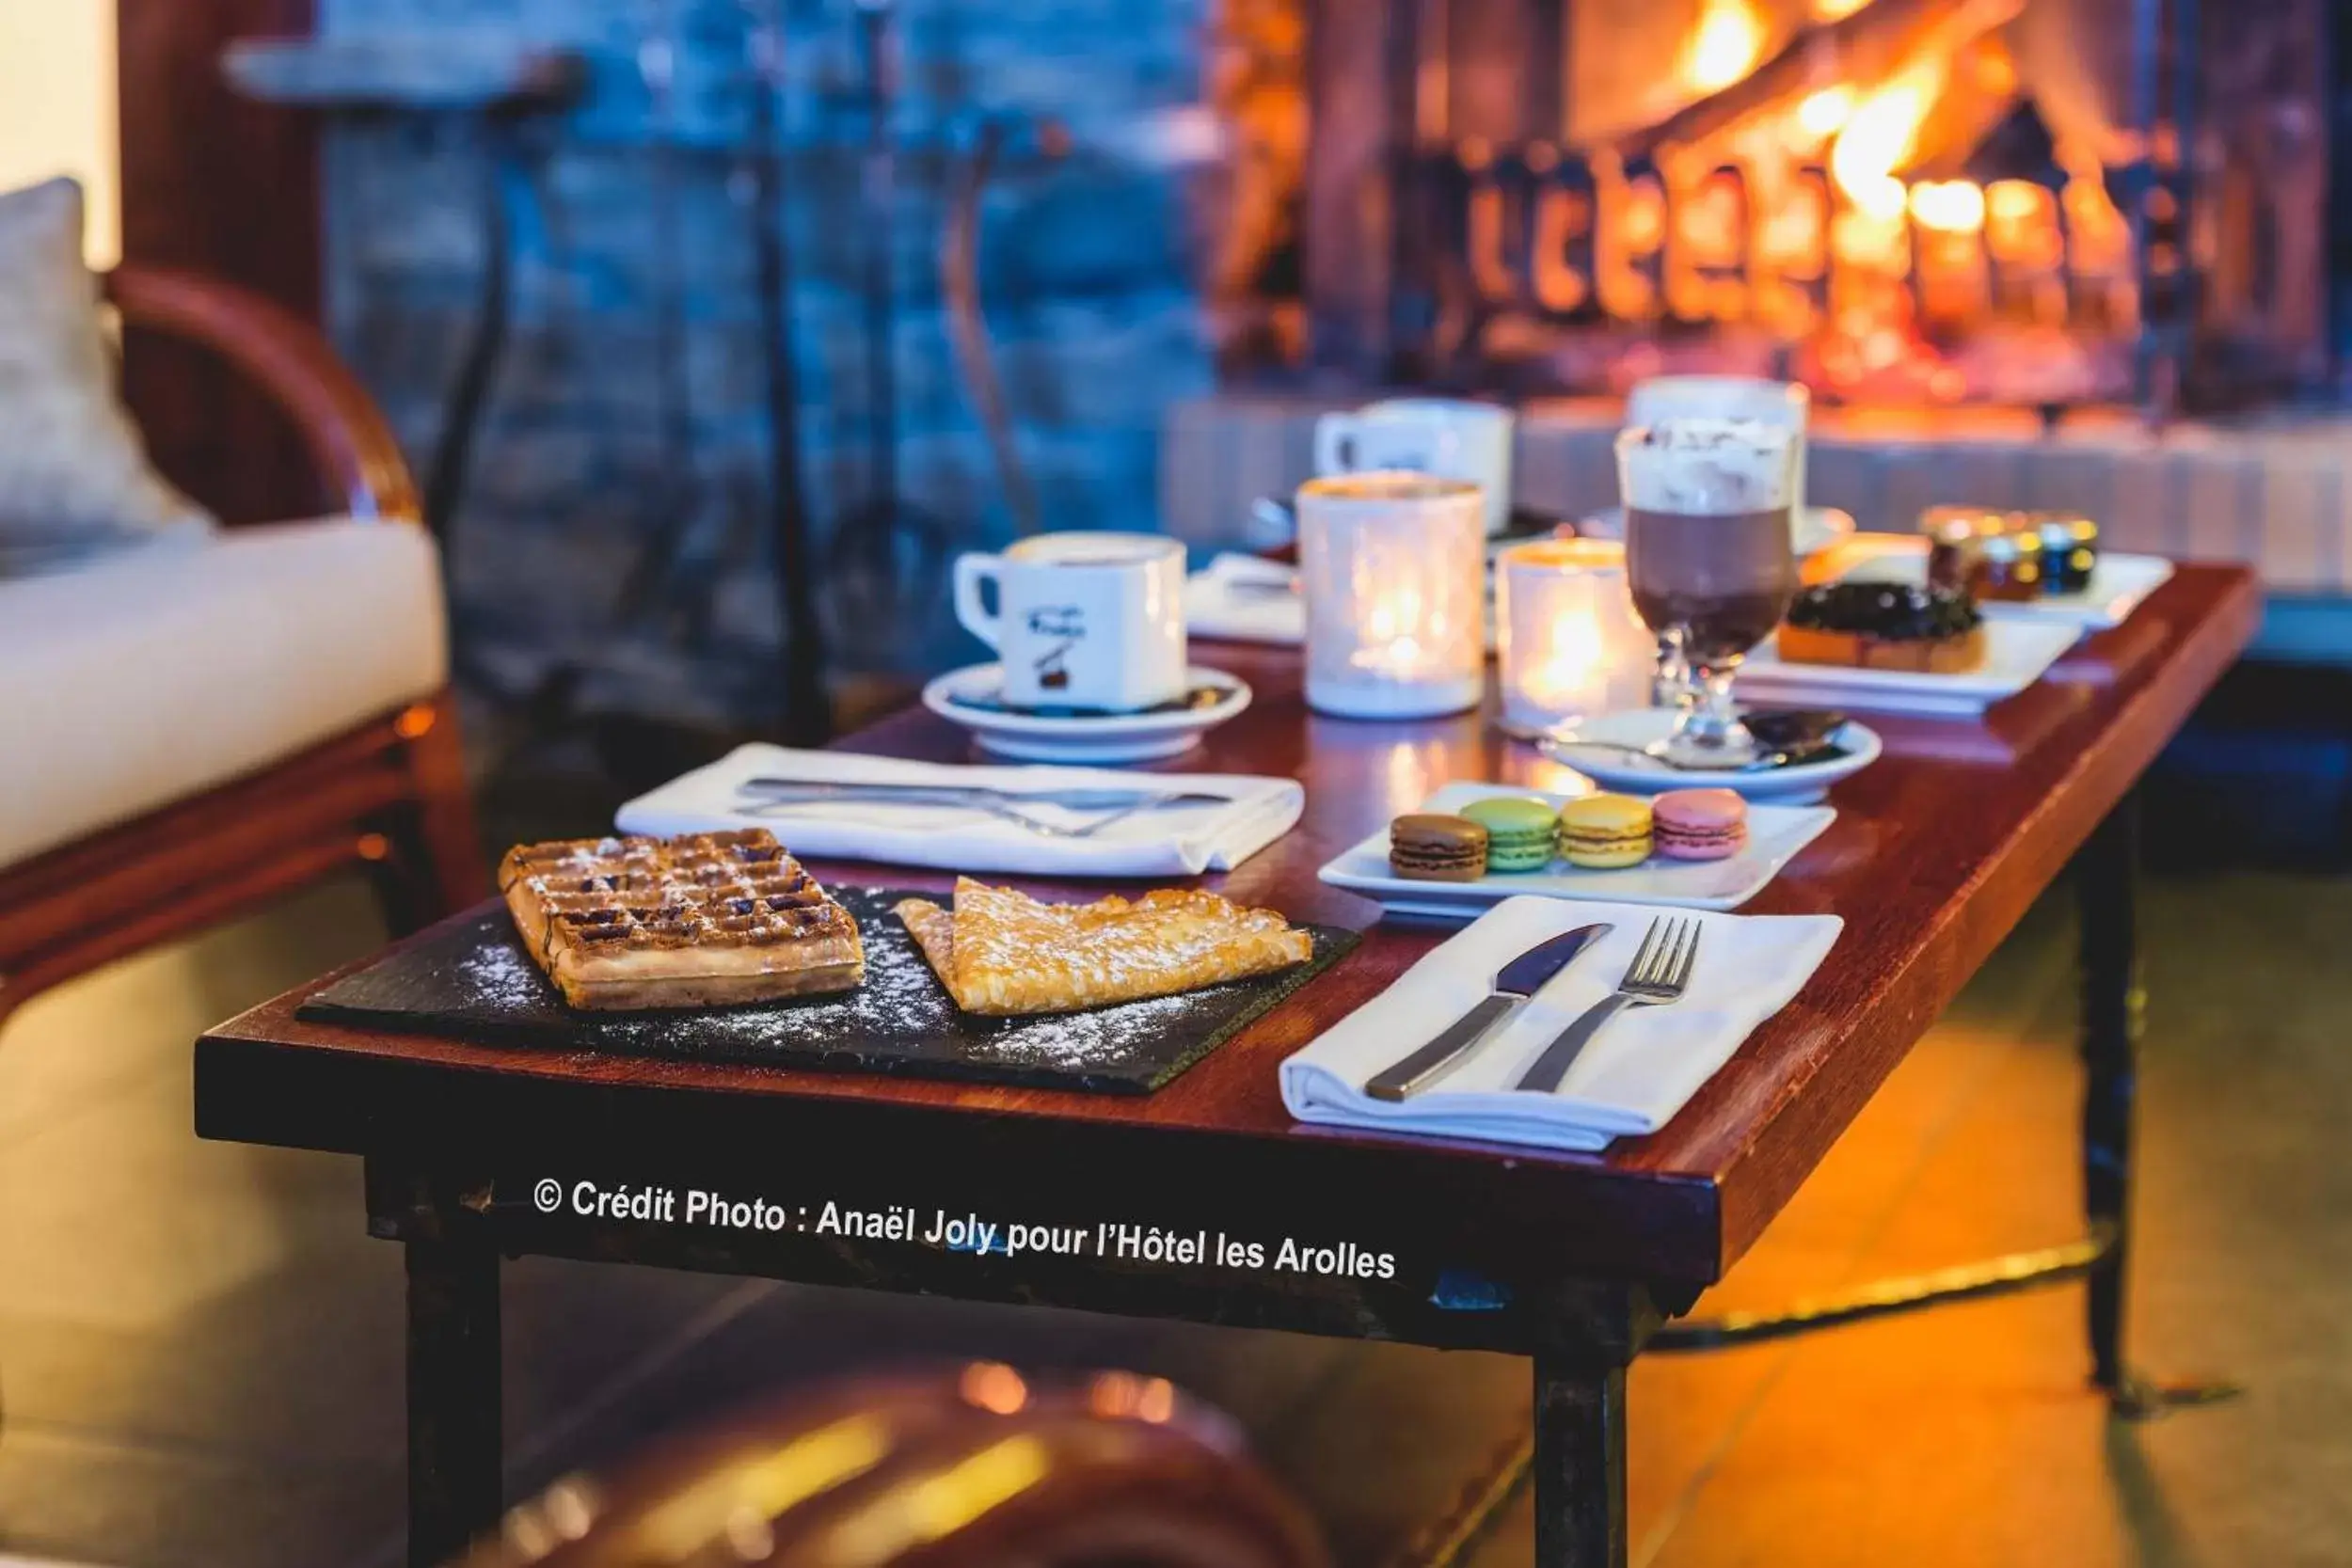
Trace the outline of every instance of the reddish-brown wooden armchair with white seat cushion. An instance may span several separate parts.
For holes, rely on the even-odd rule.
[[[383,416],[270,301],[141,266],[106,296],[125,336],[259,386],[341,520],[0,583],[0,1020],[350,865],[395,929],[485,891],[437,557]]]

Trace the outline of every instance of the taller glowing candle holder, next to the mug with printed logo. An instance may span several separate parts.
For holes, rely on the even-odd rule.
[[[1350,473],[1298,487],[1308,705],[1418,719],[1486,693],[1486,517],[1479,487]]]

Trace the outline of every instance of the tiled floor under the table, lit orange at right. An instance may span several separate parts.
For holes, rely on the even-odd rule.
[[[2352,884],[2154,882],[2147,917],[2136,1342],[2249,1394],[2112,1427],[2082,1385],[2077,1291],[1649,1359],[1637,1563],[2352,1563]],[[2034,912],[1710,1305],[2077,1229],[2067,936],[2063,905]],[[360,889],[325,889],[0,1034],[0,1552],[397,1561],[400,1258],[360,1229],[358,1168],[188,1133],[188,1039],[374,940]],[[1458,1453],[1505,1441],[1524,1389],[1501,1356],[524,1262],[515,1481],[762,1382],[978,1349],[1145,1363],[1221,1399],[1350,1563]],[[1524,1500],[1475,1561],[1529,1561]]]

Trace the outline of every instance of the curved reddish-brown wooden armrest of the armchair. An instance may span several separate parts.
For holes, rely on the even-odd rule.
[[[235,284],[125,263],[106,275],[125,329],[162,331],[221,355],[292,421],[320,482],[346,512],[421,522],[416,480],[376,400],[310,322]]]

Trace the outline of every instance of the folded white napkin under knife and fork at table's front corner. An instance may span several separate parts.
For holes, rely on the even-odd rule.
[[[1682,1001],[1621,1011],[1576,1058],[1557,1093],[1515,1091],[1543,1048],[1616,990],[1658,917],[1700,922],[1698,959]],[[1515,957],[1595,922],[1616,929],[1432,1088],[1399,1105],[1364,1093],[1367,1079],[1468,1013]],[[1505,898],[1284,1060],[1282,1103],[1301,1121],[1543,1150],[1602,1150],[1625,1133],[1656,1133],[1759,1023],[1788,1006],[1844,924],[1835,914]]]

